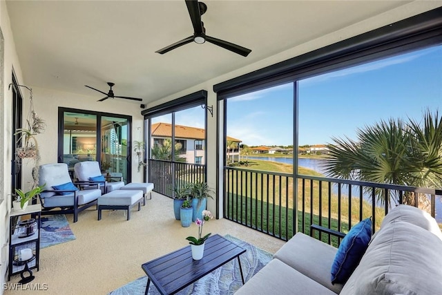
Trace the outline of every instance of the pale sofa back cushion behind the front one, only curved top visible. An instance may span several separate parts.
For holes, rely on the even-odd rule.
[[[429,213],[419,208],[405,204],[394,207],[382,220],[381,229],[396,220],[410,222],[413,225],[427,229],[442,240],[442,232],[436,220]]]

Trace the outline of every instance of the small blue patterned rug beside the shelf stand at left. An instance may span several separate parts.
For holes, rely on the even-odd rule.
[[[70,240],[75,240],[75,236],[64,214],[41,217],[40,249]]]

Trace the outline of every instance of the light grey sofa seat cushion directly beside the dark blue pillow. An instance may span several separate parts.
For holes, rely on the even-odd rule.
[[[321,285],[339,293],[343,285],[330,281],[330,270],[337,249],[316,238],[297,233],[285,243],[273,258],[293,267]]]

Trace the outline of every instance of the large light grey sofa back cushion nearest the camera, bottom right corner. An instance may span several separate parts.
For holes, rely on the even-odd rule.
[[[395,221],[372,240],[340,294],[441,294],[442,241]]]

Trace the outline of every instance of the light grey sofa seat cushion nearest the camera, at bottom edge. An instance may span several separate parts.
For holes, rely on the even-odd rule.
[[[335,294],[278,259],[271,260],[236,295]]]

